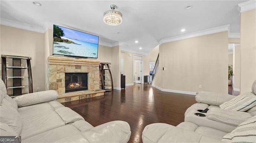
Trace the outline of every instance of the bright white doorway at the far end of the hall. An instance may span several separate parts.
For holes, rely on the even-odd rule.
[[[134,55],[134,78],[135,83],[142,83],[143,75],[143,57]]]

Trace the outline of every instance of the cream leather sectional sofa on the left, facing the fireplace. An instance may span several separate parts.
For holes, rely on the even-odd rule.
[[[0,136],[20,135],[22,143],[127,143],[130,125],[111,121],[93,127],[59,102],[55,90],[24,94],[14,99],[0,80]]]

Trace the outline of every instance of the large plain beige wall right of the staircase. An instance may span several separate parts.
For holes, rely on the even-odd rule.
[[[160,88],[228,93],[228,32],[160,45]],[[165,71],[161,71],[165,67]],[[161,72],[160,72],[161,71]],[[161,86],[162,84],[162,86]],[[202,85],[202,88],[199,88]]]

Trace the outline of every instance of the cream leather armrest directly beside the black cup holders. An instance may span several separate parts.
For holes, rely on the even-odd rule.
[[[247,112],[225,110],[220,108],[211,108],[208,110],[206,115],[207,119],[234,126],[240,125],[240,123],[251,117],[252,115]]]

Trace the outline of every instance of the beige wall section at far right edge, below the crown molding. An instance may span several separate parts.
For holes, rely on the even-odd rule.
[[[240,16],[241,33],[241,89],[250,92],[256,80],[256,9],[242,12]]]

